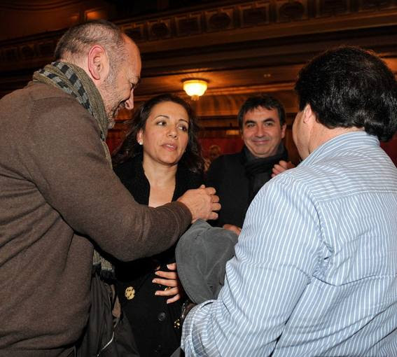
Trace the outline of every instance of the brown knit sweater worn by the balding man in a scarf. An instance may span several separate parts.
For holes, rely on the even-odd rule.
[[[1,99],[0,356],[58,356],[76,342],[90,307],[90,239],[133,260],[164,251],[190,221],[179,202],[134,201],[95,119],[69,94],[30,83]]]

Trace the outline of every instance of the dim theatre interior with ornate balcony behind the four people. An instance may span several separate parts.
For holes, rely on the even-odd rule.
[[[397,0],[105,1],[0,0],[0,97],[23,87],[52,60],[67,27],[106,18],[141,49],[136,106],[154,94],[182,90],[187,78],[208,81],[192,102],[200,116],[204,154],[211,144],[239,150],[236,114],[252,94],[279,98],[288,113],[286,146],[297,111],[293,83],[313,55],[335,45],[375,50],[397,73]],[[132,113],[120,113],[109,147],[123,139]],[[384,147],[397,163],[397,138]]]

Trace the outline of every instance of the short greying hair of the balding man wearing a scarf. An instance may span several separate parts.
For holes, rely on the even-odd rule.
[[[55,60],[84,55],[95,44],[102,45],[110,57],[111,66],[120,64],[125,55],[123,32],[106,20],[92,20],[75,25],[60,38],[55,48]]]

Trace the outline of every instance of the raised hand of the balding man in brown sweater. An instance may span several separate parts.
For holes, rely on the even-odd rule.
[[[187,190],[178,199],[179,202],[190,209],[192,222],[201,218],[205,221],[218,218],[216,211],[221,209],[219,197],[215,195],[215,188],[205,187],[204,185],[195,190]]]

